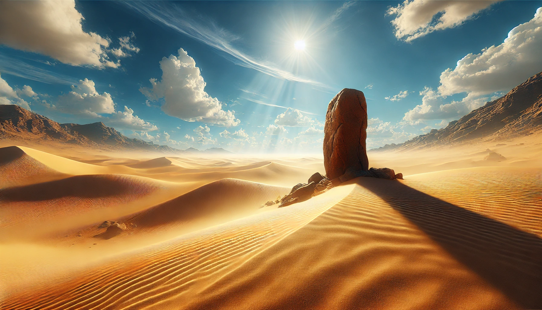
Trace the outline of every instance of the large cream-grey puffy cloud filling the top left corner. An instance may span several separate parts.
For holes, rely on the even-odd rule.
[[[50,56],[64,64],[98,68],[120,66],[109,59],[109,41],[93,32],[83,31],[81,13],[75,1],[2,1],[0,2],[0,43],[12,48]],[[120,40],[123,49],[139,52]],[[132,49],[130,49],[132,48]],[[137,49],[137,50],[136,50]]]

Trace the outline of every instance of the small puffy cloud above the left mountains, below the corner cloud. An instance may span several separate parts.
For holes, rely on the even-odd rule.
[[[77,85],[72,85],[72,91],[56,99],[55,108],[64,113],[92,117],[99,117],[98,113],[114,113],[115,105],[111,94],[98,93],[94,85],[92,80],[79,80]]]

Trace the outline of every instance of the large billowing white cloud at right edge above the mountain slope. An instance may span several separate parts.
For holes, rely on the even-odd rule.
[[[443,96],[468,92],[488,94],[509,91],[542,68],[542,8],[532,20],[508,33],[498,46],[470,53],[457,61],[454,69],[441,73],[438,91]]]

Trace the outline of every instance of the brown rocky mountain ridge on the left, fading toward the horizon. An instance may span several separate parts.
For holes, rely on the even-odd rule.
[[[195,148],[180,150],[137,138],[128,138],[102,122],[91,124],[59,124],[45,116],[23,109],[18,105],[0,105],[0,139],[26,142],[61,142],[83,147],[158,151],[171,154],[229,153],[222,148],[200,151]]]

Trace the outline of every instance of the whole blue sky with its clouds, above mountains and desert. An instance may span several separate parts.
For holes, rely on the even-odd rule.
[[[356,88],[367,146],[379,147],[442,128],[542,71],[540,7],[2,2],[0,104],[180,149],[319,153],[328,103]]]

